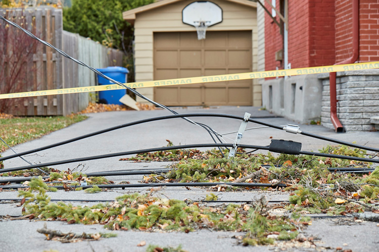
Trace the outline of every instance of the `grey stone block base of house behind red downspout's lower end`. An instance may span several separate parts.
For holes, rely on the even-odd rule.
[[[322,80],[321,125],[334,129],[330,120],[329,74]],[[337,73],[337,115],[344,131],[374,131],[370,118],[379,116],[379,70]]]

